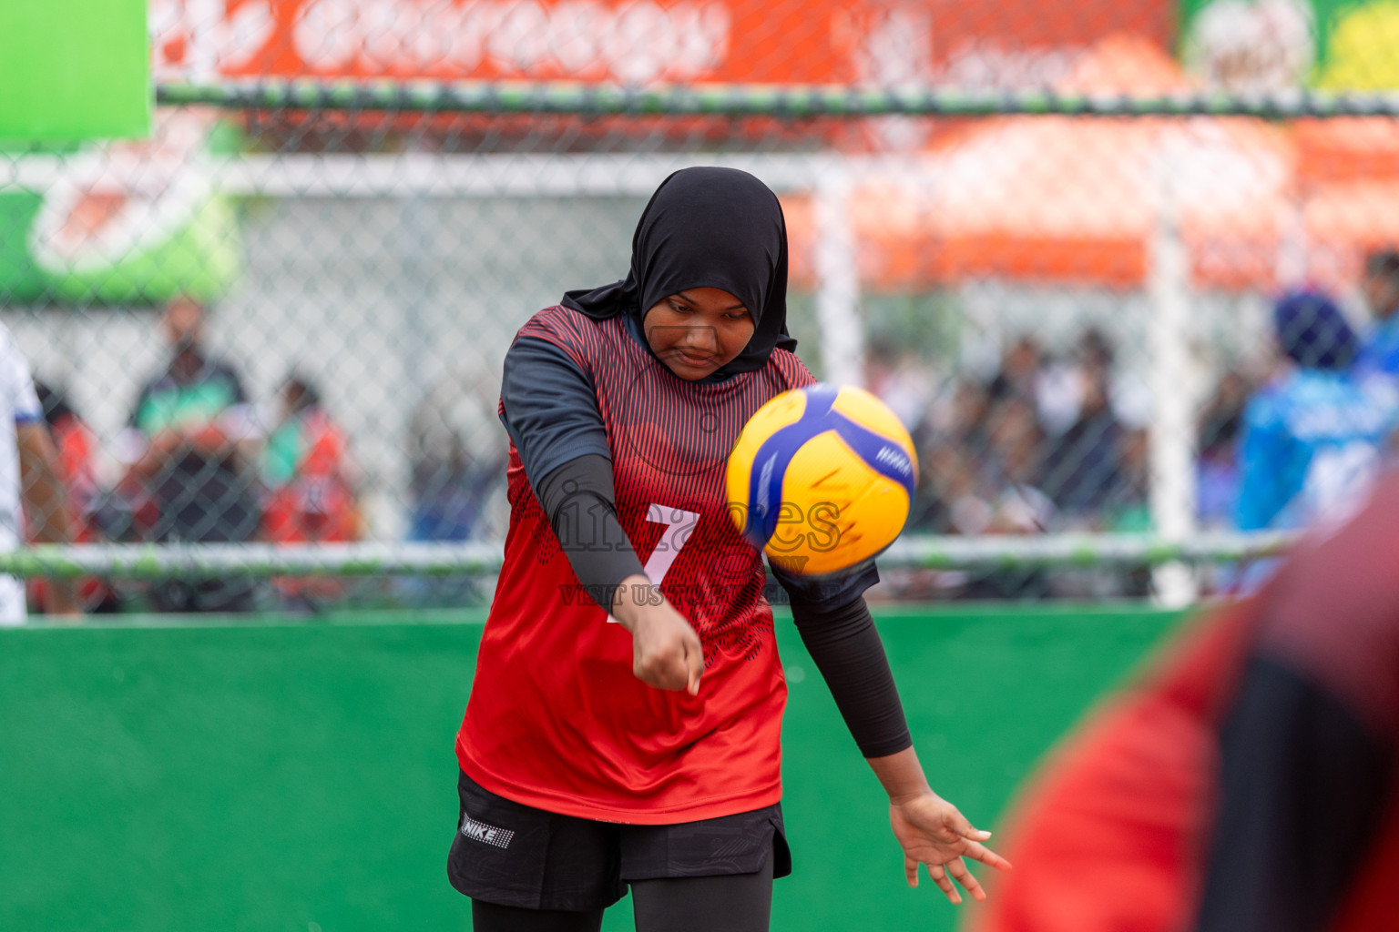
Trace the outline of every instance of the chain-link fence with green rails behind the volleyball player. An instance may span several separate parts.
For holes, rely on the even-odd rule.
[[[0,152],[0,321],[77,539],[166,549],[13,569],[115,570],[108,608],[487,597],[511,337],[719,163],[783,201],[803,359],[918,443],[883,594],[1228,585],[1170,560],[1302,521],[1238,510],[1274,299],[1332,295],[1361,344],[1399,305],[1391,7],[151,0],[152,138]]]

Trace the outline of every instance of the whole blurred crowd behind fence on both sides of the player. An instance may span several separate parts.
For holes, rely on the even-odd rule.
[[[1273,306],[1272,345],[1224,370],[1199,408],[1196,509],[1203,530],[1294,528],[1339,516],[1382,465],[1399,414],[1399,253],[1370,256],[1351,320],[1321,291]],[[1351,314],[1354,317],[1354,314]],[[77,516],[74,538],[150,542],[334,544],[362,537],[353,439],[312,380],[292,372],[274,405],[259,405],[235,361],[208,347],[206,309],[176,299],[161,316],[164,369],[148,373],[129,426],[105,454],[119,481],[104,488],[97,435],[60,388],[39,398]],[[1083,330],[1067,352],[1034,333],[1007,340],[989,379],[940,379],[918,354],[876,342],[867,387],[909,428],[919,488],[908,534],[1150,532],[1150,404],[1142,373],[1112,340]],[[471,404],[469,398],[460,400]],[[477,412],[481,423],[490,412]],[[481,428],[477,423],[477,428]],[[492,425],[494,426],[494,425]],[[498,537],[504,458],[460,435],[422,435],[411,464],[413,541]],[[488,436],[490,428],[474,436]],[[1105,598],[1151,591],[1150,571],[995,570],[886,573],[897,598]],[[1228,567],[1207,585],[1238,581]],[[166,580],[116,591],[88,581],[90,609],[245,611],[276,599],[318,609],[344,581]],[[474,587],[400,590],[399,597],[473,597]],[[35,595],[42,583],[32,584]],[[431,590],[431,591],[429,591]]]

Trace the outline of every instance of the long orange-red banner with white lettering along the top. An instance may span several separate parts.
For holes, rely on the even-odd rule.
[[[1109,0],[150,0],[157,80],[1044,85],[1172,4]]]

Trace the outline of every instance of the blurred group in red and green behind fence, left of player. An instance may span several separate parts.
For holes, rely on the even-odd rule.
[[[182,298],[165,306],[168,363],[133,400],[127,428],[104,451],[62,388],[35,383],[53,437],[80,544],[334,544],[360,538],[348,437],[315,384],[288,373],[271,418],[260,414],[238,366],[206,341],[206,309]],[[269,423],[270,421],[270,423]],[[119,464],[101,485],[104,453]],[[42,598],[43,583],[31,584]],[[325,583],[278,580],[287,606],[334,597]],[[165,580],[143,592],[157,611],[249,611],[252,580]],[[109,585],[90,580],[91,611],[119,611]]]

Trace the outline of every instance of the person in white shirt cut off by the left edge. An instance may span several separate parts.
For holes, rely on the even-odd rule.
[[[71,544],[71,511],[60,479],[59,454],[34,390],[29,363],[3,324],[0,414],[14,425],[14,430],[0,432],[0,549],[18,549],[20,528],[25,525],[35,542]],[[0,625],[22,625],[24,601],[24,584],[13,576],[0,576]],[[45,609],[52,615],[77,615],[81,609],[76,587],[53,580],[46,590]]]

